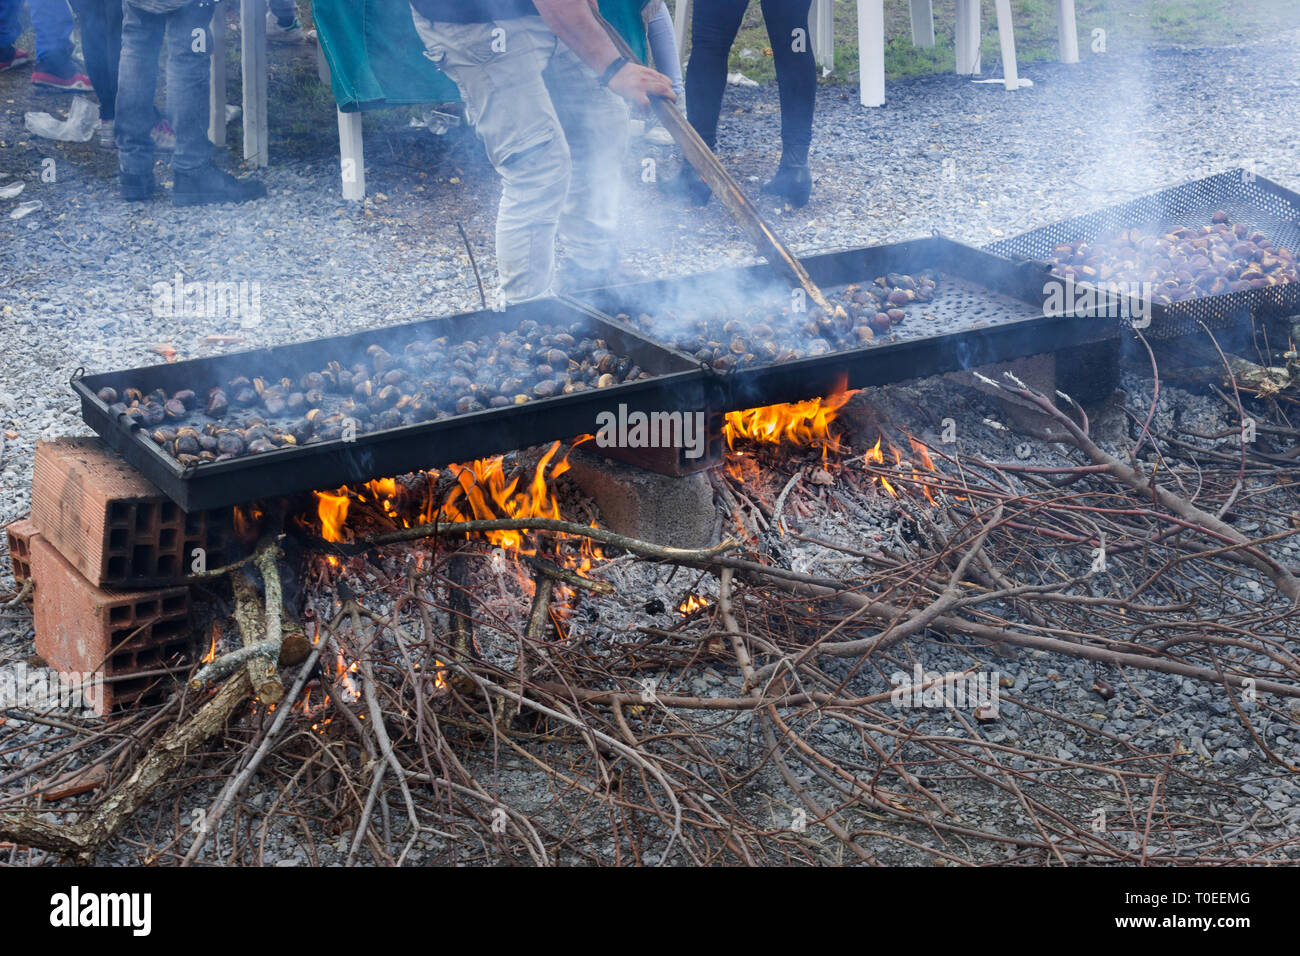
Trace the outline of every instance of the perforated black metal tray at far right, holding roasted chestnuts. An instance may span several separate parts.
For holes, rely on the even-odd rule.
[[[1046,265],[1052,248],[1062,242],[1092,242],[1134,228],[1200,226],[1218,209],[1226,211],[1234,221],[1249,222],[1278,246],[1300,252],[1300,195],[1247,169],[1230,169],[1053,222],[992,242],[984,251],[1013,261],[1032,260]],[[1249,323],[1252,317],[1296,313],[1300,313],[1300,282],[1286,282],[1169,304],[1152,303],[1150,326],[1144,334],[1171,338],[1196,332],[1201,321],[1210,328],[1225,328]]]

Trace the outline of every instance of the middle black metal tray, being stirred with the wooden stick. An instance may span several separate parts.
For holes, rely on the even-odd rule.
[[[823,290],[866,284],[888,272],[940,273],[926,304],[937,321],[913,317],[872,345],[789,362],[746,365],[720,375],[724,411],[796,402],[836,388],[888,385],[1027,355],[1114,339],[1118,319],[1105,313],[1044,315],[1040,263],[1014,263],[945,237],[802,256]],[[744,308],[759,298],[788,297],[789,285],[766,265],[636,282],[573,298],[606,316],[675,308],[689,312]],[[941,330],[946,329],[946,330]],[[653,332],[646,334],[654,337]]]

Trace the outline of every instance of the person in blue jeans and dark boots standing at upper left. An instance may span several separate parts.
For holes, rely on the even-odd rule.
[[[122,199],[153,195],[153,96],[166,38],[166,105],[176,130],[173,206],[243,203],[266,195],[212,164],[208,139],[208,51],[212,0],[125,0],[117,79],[117,166]]]

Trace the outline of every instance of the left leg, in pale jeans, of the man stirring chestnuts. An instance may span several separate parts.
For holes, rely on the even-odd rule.
[[[542,78],[558,46],[555,34],[541,17],[495,25],[412,17],[429,57],[459,87],[465,118],[502,178],[497,211],[502,298],[517,303],[549,295],[571,173],[568,140]],[[506,30],[506,52],[493,51],[494,26]]]

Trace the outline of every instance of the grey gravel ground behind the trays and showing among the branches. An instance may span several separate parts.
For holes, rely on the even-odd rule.
[[[1035,86],[1015,94],[948,75],[902,81],[890,83],[889,103],[879,111],[861,109],[853,90],[823,88],[814,202],[801,211],[763,203],[764,211],[796,251],[809,252],[931,230],[982,245],[1247,164],[1300,189],[1295,114],[1270,105],[1300,87],[1292,78],[1297,39],[1300,31],[1245,48],[1093,57],[1069,68],[1034,64],[1023,73]],[[8,345],[0,368],[3,522],[26,514],[34,442],[84,431],[66,386],[77,368],[152,364],[160,360],[153,347],[164,343],[181,358],[214,354],[222,347],[203,343],[213,333],[243,339],[225,349],[251,347],[477,306],[455,222],[464,224],[490,276],[498,187],[472,138],[436,139],[384,120],[369,122],[369,198],[363,204],[338,196],[337,156],[321,151],[272,165],[263,173],[269,198],[247,207],[173,209],[165,199],[126,206],[116,198],[110,160],[94,143],[56,144],[25,133],[26,82],[25,73],[0,75],[0,186],[26,183],[18,199],[0,200],[0,333]],[[724,113],[720,153],[757,196],[777,159],[776,91],[733,88]],[[273,148],[273,161],[276,156]],[[658,277],[753,260],[718,203],[698,211],[641,182],[645,156],[658,161],[662,178],[676,164],[670,150],[634,144],[628,156],[621,246],[630,265]],[[42,160],[49,157],[57,170],[53,183],[40,179]],[[20,221],[8,219],[10,207],[30,199],[44,208]],[[173,281],[177,272],[190,281],[259,282],[261,321],[242,328],[229,319],[152,315],[151,287]],[[1140,407],[1140,380],[1126,386]],[[1183,401],[1197,407],[1193,397]],[[1204,414],[1212,415],[1208,408]],[[30,633],[26,613],[6,613],[0,658],[29,653]],[[968,666],[968,656],[946,644],[918,644],[916,656],[930,670]],[[1260,808],[1280,812],[1296,803],[1294,778],[1264,773],[1240,723],[1212,688],[1148,675],[1143,693],[1149,704],[1091,718],[1091,665],[1023,656],[998,667],[1014,682],[1010,693],[1048,695],[1048,702],[1083,723],[1095,719],[1105,732],[1132,735],[1134,745],[1154,747],[1167,735],[1202,740],[1213,750],[1205,773],[1239,778],[1258,803],[1227,812],[1230,825]],[[1097,756],[1097,739],[1082,730],[1039,731],[1017,717],[1014,705],[1004,705],[1008,739],[1030,737],[1058,756]],[[837,732],[829,723],[824,735]],[[1300,760],[1294,721],[1274,726],[1270,743]],[[842,732],[848,747],[850,732]],[[524,792],[533,784],[528,774],[515,777],[504,783]],[[757,778],[757,786],[777,793],[780,784],[770,777]],[[1195,795],[1179,796],[1187,806],[1195,804]],[[972,819],[1004,819],[1006,831],[1015,832],[1014,806],[980,805],[974,792],[967,799]],[[303,858],[289,842],[276,853],[286,862]],[[114,851],[103,862],[130,860],[130,852]],[[924,860],[900,852],[894,861]]]

